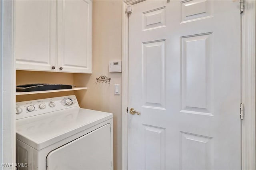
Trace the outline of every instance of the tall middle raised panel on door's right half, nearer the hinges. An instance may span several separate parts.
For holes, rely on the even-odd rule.
[[[181,110],[212,115],[213,33],[181,38]]]

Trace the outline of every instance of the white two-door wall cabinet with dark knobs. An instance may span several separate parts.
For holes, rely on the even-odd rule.
[[[17,70],[92,73],[91,0],[16,0]]]

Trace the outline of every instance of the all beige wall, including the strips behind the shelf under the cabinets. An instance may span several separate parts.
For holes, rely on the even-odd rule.
[[[16,101],[27,101],[75,94],[80,107],[114,114],[114,170],[121,169],[121,95],[114,95],[114,84],[120,84],[121,73],[109,73],[108,61],[121,60],[122,1],[94,0],[92,18],[92,74],[16,71],[16,84],[57,83],[88,87],[87,90],[35,95],[19,95]],[[105,75],[111,83],[97,83]],[[121,90],[121,89],[120,89]]]

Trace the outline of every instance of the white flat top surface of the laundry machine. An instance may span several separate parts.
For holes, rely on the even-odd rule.
[[[16,138],[40,150],[112,117],[112,113],[73,107],[16,120]]]

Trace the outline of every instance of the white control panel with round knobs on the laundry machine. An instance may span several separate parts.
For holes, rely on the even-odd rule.
[[[75,95],[22,101],[16,103],[16,119],[41,115],[71,107],[79,107]]]

